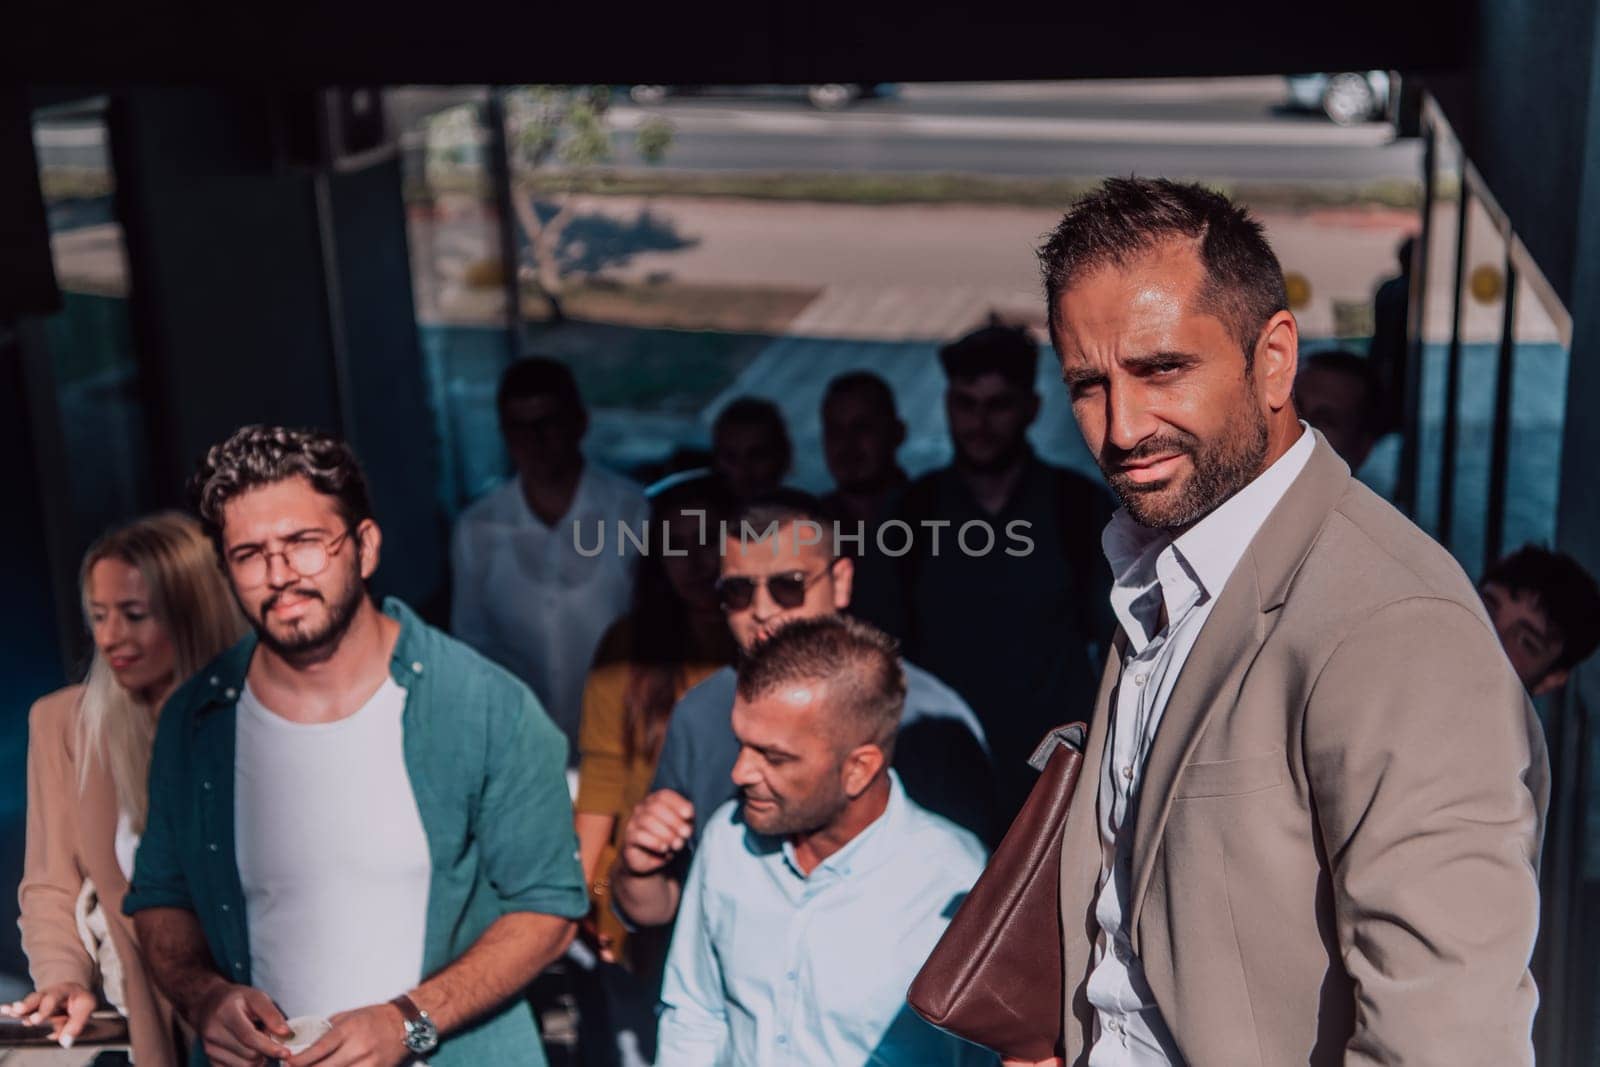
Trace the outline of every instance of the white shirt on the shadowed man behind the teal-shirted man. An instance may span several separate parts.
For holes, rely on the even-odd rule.
[[[517,478],[456,520],[450,629],[528,683],[566,734],[568,758],[595,648],[634,595],[637,550],[618,522],[638,533],[648,515],[635,483],[590,461],[554,526],[533,514]],[[574,523],[589,555],[578,550]]]

